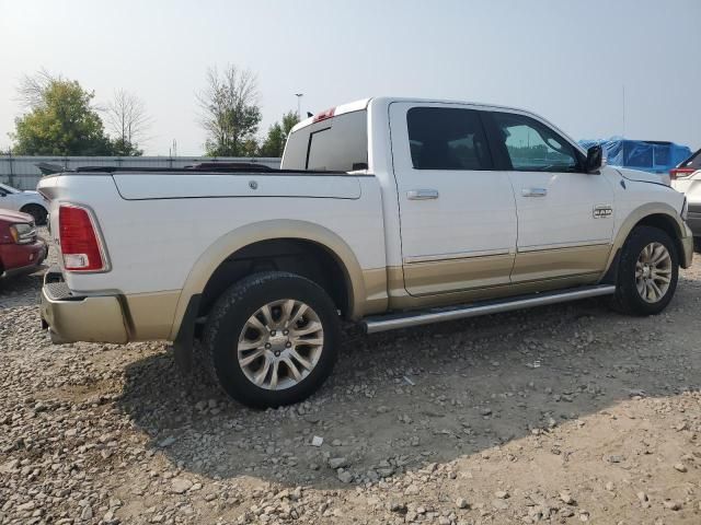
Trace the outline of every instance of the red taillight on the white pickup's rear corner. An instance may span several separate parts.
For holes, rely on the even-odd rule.
[[[105,271],[107,262],[92,214],[85,208],[61,205],[58,237],[67,271]]]

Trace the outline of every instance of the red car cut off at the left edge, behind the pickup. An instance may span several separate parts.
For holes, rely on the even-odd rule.
[[[32,215],[0,210],[0,277],[38,270],[46,254],[46,244],[37,237]]]

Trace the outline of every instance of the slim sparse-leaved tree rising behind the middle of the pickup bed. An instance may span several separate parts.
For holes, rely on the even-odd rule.
[[[255,75],[249,70],[229,66],[221,74],[216,68],[207,72],[207,88],[197,95],[207,155],[250,156],[257,149],[257,96]]]

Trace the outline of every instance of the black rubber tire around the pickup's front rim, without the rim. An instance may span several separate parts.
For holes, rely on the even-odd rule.
[[[651,243],[659,243],[669,253],[671,259],[671,277],[669,287],[656,302],[645,301],[637,291],[635,281],[635,266],[643,248]],[[674,298],[679,278],[679,255],[671,237],[657,228],[636,226],[629,235],[621,250],[618,269],[618,282],[612,306],[630,315],[656,315],[667,307]]]

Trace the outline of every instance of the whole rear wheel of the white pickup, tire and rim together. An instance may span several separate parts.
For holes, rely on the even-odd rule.
[[[326,380],[341,338],[336,307],[303,277],[249,276],[217,301],[205,327],[208,368],[223,390],[253,408],[290,405]]]

